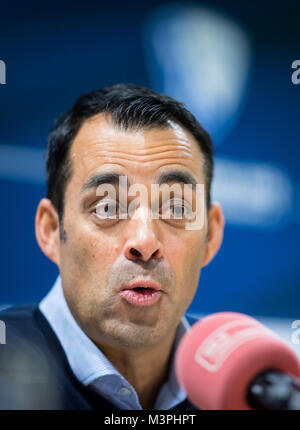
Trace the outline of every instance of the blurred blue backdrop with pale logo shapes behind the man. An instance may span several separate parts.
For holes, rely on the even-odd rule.
[[[300,319],[299,19],[290,0],[3,2],[1,306],[40,300],[57,275],[34,237],[54,119],[132,82],[184,102],[215,144],[224,242],[189,312]]]

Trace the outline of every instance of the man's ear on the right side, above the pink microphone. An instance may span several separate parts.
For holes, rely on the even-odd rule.
[[[208,232],[206,251],[202,267],[207,266],[219,251],[222,244],[225,220],[219,203],[213,203],[208,212]]]

